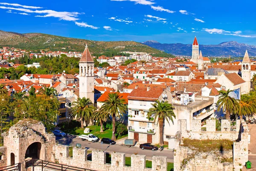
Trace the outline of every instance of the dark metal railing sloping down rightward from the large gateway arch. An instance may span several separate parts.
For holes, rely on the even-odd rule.
[[[96,170],[91,170],[87,168],[78,168],[78,167],[63,165],[59,163],[48,162],[48,161],[39,160],[39,159],[27,160],[26,168],[29,168],[29,167],[32,167],[32,171],[34,171],[35,167],[41,167],[42,171],[44,168],[50,168],[55,171],[96,171]]]

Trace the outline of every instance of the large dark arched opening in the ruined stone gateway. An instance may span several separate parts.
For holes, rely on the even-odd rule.
[[[42,144],[40,142],[34,142],[26,150],[25,159],[32,158],[32,159],[40,159]]]

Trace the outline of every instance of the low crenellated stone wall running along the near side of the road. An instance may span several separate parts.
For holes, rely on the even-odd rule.
[[[55,145],[55,159],[64,165],[76,166],[98,171],[167,171],[167,157],[153,156],[152,168],[146,168],[145,155],[131,155],[131,166],[125,166],[125,153],[111,153],[111,164],[106,163],[106,152],[92,151],[92,161],[87,160],[86,148],[73,148],[69,157],[69,147]]]

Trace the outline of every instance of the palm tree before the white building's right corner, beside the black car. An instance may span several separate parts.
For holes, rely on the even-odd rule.
[[[154,122],[157,121],[157,125],[159,124],[159,144],[163,145],[163,122],[166,120],[170,125],[169,120],[171,120],[173,124],[173,118],[176,118],[173,112],[174,107],[172,104],[169,104],[168,101],[160,102],[158,100],[156,100],[152,106],[153,107],[149,109],[147,117],[148,119],[154,118]]]

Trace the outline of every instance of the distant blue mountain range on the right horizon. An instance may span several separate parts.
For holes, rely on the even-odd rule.
[[[159,43],[157,41],[145,41],[142,43],[173,55],[191,56],[192,54],[192,44]],[[236,41],[223,42],[217,45],[199,44],[199,50],[202,51],[203,56],[231,55],[239,57],[243,56],[246,50],[248,50],[250,56],[256,56],[256,46],[238,43]]]

